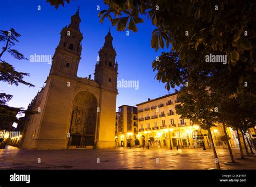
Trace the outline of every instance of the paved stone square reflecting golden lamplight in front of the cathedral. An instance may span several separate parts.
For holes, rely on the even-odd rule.
[[[233,149],[239,158],[239,149]],[[221,169],[256,169],[256,156],[230,161],[227,149],[217,149]],[[41,163],[38,163],[38,158]],[[97,161],[99,163],[97,163]],[[159,161],[157,163],[157,161]],[[211,149],[116,148],[81,150],[0,149],[0,169],[215,169]]]

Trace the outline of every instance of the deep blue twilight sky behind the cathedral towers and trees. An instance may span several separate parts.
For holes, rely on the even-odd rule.
[[[41,11],[37,6],[41,5]],[[0,30],[9,30],[14,27],[22,35],[15,49],[29,58],[30,55],[52,55],[55,53],[60,39],[60,31],[65,25],[69,25],[70,17],[80,6],[80,31],[83,33],[82,41],[83,51],[82,59],[79,63],[78,76],[88,77],[95,70],[98,51],[104,44],[104,37],[109,30],[111,23],[105,19],[100,24],[97,10],[104,10],[107,6],[103,0],[76,0],[70,4],[59,6],[55,9],[46,0],[1,0],[0,1]],[[156,98],[168,94],[164,84],[159,83],[154,76],[151,63],[156,56],[161,54],[161,50],[155,52],[151,48],[151,34],[154,26],[151,21],[145,17],[144,23],[138,24],[138,32],[130,31],[126,36],[125,32],[119,32],[116,27],[111,26],[113,36],[113,46],[116,49],[116,60],[118,66],[118,80],[139,81],[139,89],[118,88],[117,107],[123,104],[135,105],[145,102],[147,98]],[[4,45],[0,43],[0,47]],[[165,49],[167,51],[167,49]],[[26,108],[37,91],[44,85],[46,77],[49,75],[51,65],[44,63],[32,63],[29,60],[16,60],[8,53],[2,56],[2,59],[12,64],[17,71],[30,73],[30,77],[25,77],[35,85],[35,88],[29,88],[20,84],[18,87],[0,82],[0,91],[14,95],[14,98],[8,103],[10,106]],[[170,92],[173,92],[171,90]]]

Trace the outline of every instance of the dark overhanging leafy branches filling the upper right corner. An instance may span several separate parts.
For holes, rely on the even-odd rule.
[[[195,74],[212,75],[219,69],[221,72],[233,74],[230,77],[236,75],[238,80],[242,80],[236,82],[235,89],[241,90],[243,81],[254,84],[252,75],[256,69],[256,7],[253,0],[106,0],[104,3],[109,5],[109,9],[99,13],[100,21],[103,22],[108,17],[112,25],[117,25],[118,31],[126,29],[129,17],[133,19],[127,28],[134,32],[137,31],[136,24],[142,23],[133,21],[134,17],[145,15],[151,19],[156,26],[152,32],[151,47],[158,51],[159,48],[169,48],[172,45],[172,50],[179,54],[180,66],[188,70],[189,76],[184,81],[195,82],[195,76],[198,78]],[[210,53],[227,55],[227,65],[206,63],[205,56]],[[166,64],[170,65],[168,62]],[[178,74],[176,68],[167,72],[166,69],[170,69],[167,65],[165,68],[157,67],[158,65],[159,63],[153,63],[153,68],[163,69],[162,73],[157,74],[157,79],[166,82],[166,88],[174,88],[180,84],[180,78],[176,78],[174,82],[172,80],[171,84],[168,82],[169,78],[165,77],[170,73]],[[161,66],[165,66],[164,61]]]

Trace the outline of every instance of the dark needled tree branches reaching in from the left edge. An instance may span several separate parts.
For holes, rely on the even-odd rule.
[[[28,85],[29,87],[34,87],[33,84],[23,80],[24,76],[29,76],[28,73],[18,72],[11,64],[2,60],[2,56],[5,54],[5,52],[11,54],[15,59],[28,60],[23,54],[19,53],[13,48],[15,46],[15,42],[18,42],[19,37],[21,37],[21,35],[18,34],[14,28],[11,28],[10,31],[0,30],[0,42],[4,42],[2,52],[0,53],[0,81],[7,82],[10,85],[17,86],[21,83]],[[7,93],[0,93],[0,122],[17,122],[18,119],[16,118],[16,114],[24,112],[23,108],[16,108],[6,105],[6,103],[9,102],[12,97],[12,95]]]

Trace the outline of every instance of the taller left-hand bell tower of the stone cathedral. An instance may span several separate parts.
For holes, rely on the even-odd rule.
[[[80,32],[79,9],[71,17],[69,26],[60,32],[59,45],[52,58],[51,74],[64,73],[62,76],[77,76],[78,64],[82,51],[83,34]]]

